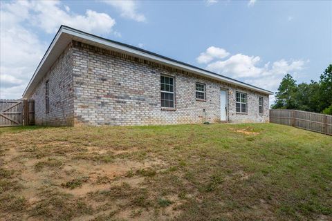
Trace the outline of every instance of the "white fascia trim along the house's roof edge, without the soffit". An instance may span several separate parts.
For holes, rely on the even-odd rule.
[[[257,86],[253,86],[251,84],[246,84],[242,81],[232,79],[230,77],[226,77],[226,76],[223,76],[223,75],[219,75],[217,73],[213,73],[210,70],[205,70],[203,68],[199,68],[199,67],[193,66],[191,64],[186,64],[182,61],[177,61],[176,59],[165,57],[163,55],[158,55],[154,52],[150,52],[150,51],[144,50],[142,48],[131,46],[129,44],[124,44],[124,43],[119,42],[119,41],[113,41],[113,40],[110,40],[110,39],[105,39],[105,38],[99,37],[97,35],[92,35],[90,33],[83,32],[82,30],[77,30],[75,28],[71,28],[71,27],[62,25],[62,26],[60,26],[59,30],[57,31],[57,34],[55,35],[52,42],[50,43],[50,46],[48,46],[48,49],[46,50],[46,52],[44,54],[44,57],[42,58],[42,61],[39,62],[39,65],[38,65],[37,69],[35,70],[35,73],[33,74],[33,77],[30,79],[29,84],[26,87],[26,90],[24,90],[23,97],[24,97],[24,95],[26,95],[26,92],[27,92],[28,88],[30,87],[31,83],[33,82],[33,79],[35,79],[35,76],[37,75],[40,67],[42,66],[42,64],[44,64],[44,61],[48,57],[48,54],[50,53],[53,46],[57,42],[57,39],[59,39],[59,37],[61,36],[62,33],[72,35],[73,37],[79,37],[79,38],[82,38],[82,39],[86,39],[88,41],[93,41],[95,43],[102,44],[102,45],[105,45],[105,46],[110,46],[111,48],[116,48],[116,49],[121,50],[121,51],[129,52],[131,54],[138,55],[138,56],[141,56],[141,57],[145,57],[145,58],[148,58],[148,59],[151,59],[151,60],[154,60],[154,61],[159,61],[159,62],[168,64],[168,65],[171,65],[171,66],[176,66],[177,68],[185,69],[185,70],[188,70],[190,72],[201,73],[203,75],[208,75],[208,77],[210,77],[210,78],[219,79],[219,80],[225,81],[229,84],[236,84],[237,86],[242,86],[244,88],[249,88],[251,90],[256,90],[256,91],[259,91],[261,93],[265,93],[265,94],[268,94],[268,95],[273,95],[273,92],[270,91],[270,90],[265,90],[264,88],[259,88]]]

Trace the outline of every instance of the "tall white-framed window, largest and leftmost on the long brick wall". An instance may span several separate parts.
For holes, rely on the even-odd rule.
[[[174,108],[174,78],[160,76],[161,107]]]

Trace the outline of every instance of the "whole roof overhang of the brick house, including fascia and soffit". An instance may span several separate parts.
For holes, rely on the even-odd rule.
[[[142,59],[147,59],[149,61],[158,62],[160,64],[165,64],[167,66],[172,66],[174,68],[186,70],[190,73],[195,73],[196,75],[201,75],[203,77],[209,77],[211,79],[223,81],[228,84],[241,86],[243,88],[255,90],[257,92],[264,93],[267,95],[273,95],[273,92],[270,90],[265,90],[263,88],[246,84],[242,81],[238,81],[230,77],[213,73],[203,68],[192,66],[190,64],[185,64],[182,61],[176,61],[175,59],[171,59],[163,55],[158,55],[154,52],[150,52],[142,48],[138,48],[128,44],[123,44],[121,42],[113,41],[110,39],[105,39],[103,37],[92,35],[83,32],[82,30],[77,30],[75,28],[71,28],[68,26],[60,26],[53,41],[50,43],[50,46],[48,46],[45,55],[42,58],[42,61],[40,61],[39,65],[37,66],[37,69],[35,70],[33,77],[30,79],[28,86],[26,86],[26,90],[24,90],[23,97],[26,97],[33,92],[35,86],[37,86],[42,77],[46,75],[47,71],[54,64],[59,55],[62,54],[66,46],[68,46],[68,44],[73,40],[80,41],[82,43],[89,44],[92,46],[97,46],[99,48],[105,48],[107,50],[122,52],[124,54],[140,57]]]

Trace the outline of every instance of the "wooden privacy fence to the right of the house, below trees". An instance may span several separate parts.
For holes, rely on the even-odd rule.
[[[270,110],[270,122],[332,135],[332,115],[295,110]]]

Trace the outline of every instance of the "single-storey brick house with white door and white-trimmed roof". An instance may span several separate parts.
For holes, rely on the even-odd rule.
[[[38,125],[268,122],[273,93],[61,26],[23,97]]]

